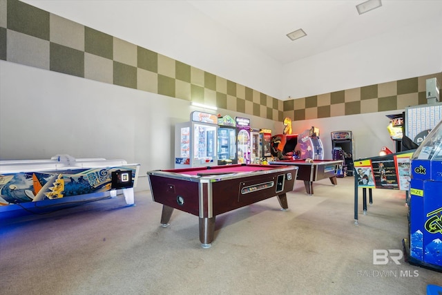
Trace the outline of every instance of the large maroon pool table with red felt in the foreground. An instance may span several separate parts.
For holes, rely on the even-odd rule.
[[[232,164],[148,171],[152,198],[163,204],[161,225],[169,226],[173,209],[199,217],[201,247],[211,247],[215,216],[255,202],[278,197],[288,209],[297,166]]]

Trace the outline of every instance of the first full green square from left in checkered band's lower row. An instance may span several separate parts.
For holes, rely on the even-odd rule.
[[[84,52],[50,42],[49,69],[84,77]]]

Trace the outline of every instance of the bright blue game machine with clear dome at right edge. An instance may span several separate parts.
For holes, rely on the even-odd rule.
[[[442,121],[412,155],[408,262],[442,272]]]

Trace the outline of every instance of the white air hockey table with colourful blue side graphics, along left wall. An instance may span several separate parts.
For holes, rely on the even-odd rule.
[[[0,211],[50,210],[64,203],[117,196],[117,190],[122,190],[127,204],[134,204],[139,168],[140,164],[125,160],[70,155],[55,155],[50,160],[1,160]],[[15,204],[19,207],[12,206]]]

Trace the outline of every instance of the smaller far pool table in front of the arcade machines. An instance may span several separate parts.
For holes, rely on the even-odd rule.
[[[298,176],[296,179],[304,180],[305,190],[313,195],[313,182],[329,178],[332,184],[338,184],[336,175],[343,165],[343,160],[278,160],[270,161],[273,165],[298,166]]]

